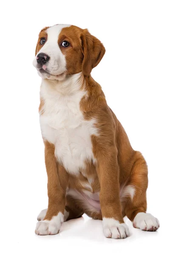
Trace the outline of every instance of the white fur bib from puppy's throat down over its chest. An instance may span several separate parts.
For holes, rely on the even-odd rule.
[[[96,134],[95,120],[84,119],[79,103],[85,91],[79,89],[78,75],[65,83],[42,81],[44,100],[40,115],[42,137],[55,145],[55,156],[71,174],[85,168],[85,160],[94,160],[91,135]]]

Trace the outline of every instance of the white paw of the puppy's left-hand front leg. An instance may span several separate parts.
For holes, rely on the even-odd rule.
[[[51,219],[51,221],[44,220],[37,222],[35,233],[40,236],[55,235],[59,233],[63,221],[64,215],[59,212],[57,216],[54,216]]]

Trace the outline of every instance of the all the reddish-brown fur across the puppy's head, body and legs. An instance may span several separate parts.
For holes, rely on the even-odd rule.
[[[36,52],[40,49],[40,38],[45,37],[42,29]],[[62,41],[69,41],[69,47],[62,47]],[[54,156],[54,145],[45,141],[45,165],[48,175],[48,211],[45,219],[50,220],[64,209],[69,218],[78,218],[84,212],[92,218],[114,218],[120,223],[123,217],[133,221],[138,212],[146,212],[147,165],[142,154],[134,151],[122,125],[108,107],[101,86],[90,73],[105,54],[102,43],[87,29],[70,26],[62,29],[58,39],[65,55],[68,74],[82,71],[82,89],[88,96],[82,98],[80,109],[86,120],[95,118],[99,136],[91,136],[96,163],[87,162],[86,169],[79,176],[70,175]],[[42,114],[43,101],[40,103]],[[100,191],[101,212],[91,212],[81,201],[66,195],[66,189],[88,190],[83,186],[87,177],[92,177],[92,192]],[[133,200],[130,196],[120,201],[120,187],[132,185],[136,189]]]

